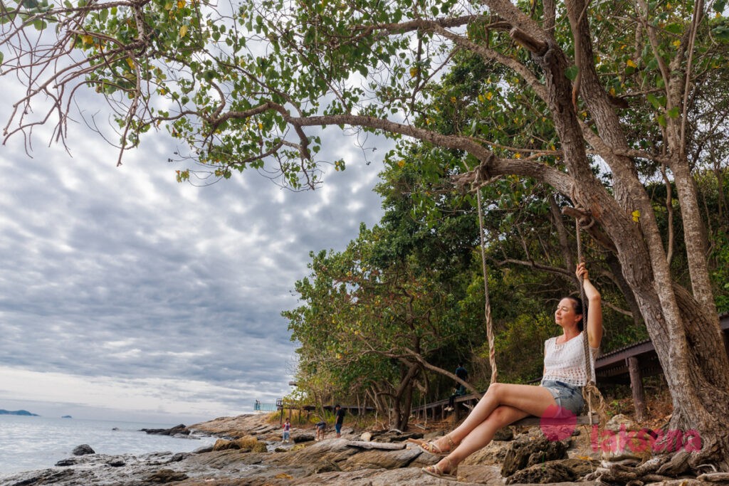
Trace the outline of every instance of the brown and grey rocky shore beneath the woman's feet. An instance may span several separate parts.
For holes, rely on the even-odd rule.
[[[345,428],[342,438],[335,439],[330,432],[331,438],[319,442],[314,441],[311,426],[295,425],[292,442],[284,444],[278,424],[269,423],[265,416],[219,418],[187,428],[195,434],[219,437],[211,447],[176,454],[78,455],[51,469],[2,479],[0,486],[456,484],[421,471],[439,458],[407,442],[411,437],[428,439],[443,434],[443,428],[448,427],[441,425],[409,433]],[[600,465],[599,454],[590,448],[589,434],[589,429],[578,428],[566,439],[550,440],[538,427],[509,429],[461,464],[459,482],[596,485],[585,479]]]

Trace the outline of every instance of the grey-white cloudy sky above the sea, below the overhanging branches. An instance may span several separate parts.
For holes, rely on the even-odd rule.
[[[42,131],[31,157],[20,136],[0,146],[0,409],[174,425],[288,393],[280,312],[309,251],[378,222],[384,143],[326,135],[321,158],[346,171],[294,193],[255,172],[178,184],[164,133],[117,168],[112,146],[70,131],[70,155]]]

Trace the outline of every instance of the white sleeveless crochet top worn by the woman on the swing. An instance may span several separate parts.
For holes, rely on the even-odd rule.
[[[585,352],[582,340],[585,333],[580,332],[577,337],[564,344],[557,344],[556,337],[545,341],[545,375],[542,380],[558,380],[568,385],[585,386],[588,377],[585,373]],[[592,376],[595,376],[595,358],[599,348],[590,348],[590,365]]]

